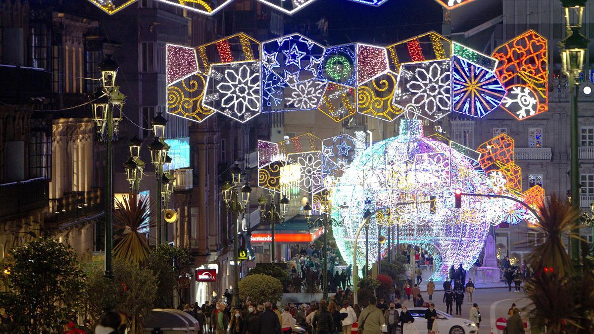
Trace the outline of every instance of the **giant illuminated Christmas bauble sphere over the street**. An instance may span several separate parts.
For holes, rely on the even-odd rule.
[[[424,137],[421,121],[403,120],[399,136],[365,149],[332,187],[333,217],[345,222],[333,230],[343,258],[353,262],[355,234],[369,216],[370,265],[378,258],[379,235],[387,235],[388,226],[398,225],[400,243],[419,245],[434,257],[432,278],[443,279],[452,264],[462,263],[469,270],[489,227],[500,223],[514,206],[502,198],[463,196],[462,206],[456,208],[456,189],[463,194],[495,193],[494,181],[478,159],[478,152],[447,138]],[[361,268],[365,229],[357,247]],[[386,250],[387,243],[382,245],[382,256]]]

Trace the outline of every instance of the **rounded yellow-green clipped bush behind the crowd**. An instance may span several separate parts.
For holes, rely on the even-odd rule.
[[[283,296],[283,285],[273,276],[252,274],[239,281],[239,298],[254,303],[276,303]]]

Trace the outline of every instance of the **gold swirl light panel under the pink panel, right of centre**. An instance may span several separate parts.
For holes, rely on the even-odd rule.
[[[394,121],[403,109],[392,104],[396,91],[396,77],[391,72],[381,74],[357,87],[357,108],[360,114]]]

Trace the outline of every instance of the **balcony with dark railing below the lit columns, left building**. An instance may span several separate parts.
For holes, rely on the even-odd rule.
[[[102,191],[95,188],[89,191],[68,193],[64,197],[50,198],[49,212],[45,221],[54,228],[73,220],[86,219],[103,212]]]

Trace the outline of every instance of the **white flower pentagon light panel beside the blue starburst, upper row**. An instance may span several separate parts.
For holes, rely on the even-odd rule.
[[[451,112],[450,60],[403,64],[393,103],[429,121]]]

